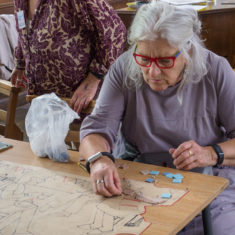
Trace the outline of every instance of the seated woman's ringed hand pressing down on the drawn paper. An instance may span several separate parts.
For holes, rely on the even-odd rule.
[[[93,191],[96,194],[112,197],[122,193],[117,167],[111,159],[102,156],[92,163],[90,167]]]

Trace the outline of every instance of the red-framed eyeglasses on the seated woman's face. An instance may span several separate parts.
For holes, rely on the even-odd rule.
[[[136,48],[137,48],[137,46],[136,46]],[[135,53],[136,48],[135,48],[133,56],[134,56],[135,61],[138,65],[143,66],[143,67],[151,67],[152,63],[155,62],[156,66],[160,69],[170,69],[170,68],[174,67],[175,60],[181,53],[181,51],[178,51],[175,54],[175,56],[151,58],[148,56],[136,54]]]

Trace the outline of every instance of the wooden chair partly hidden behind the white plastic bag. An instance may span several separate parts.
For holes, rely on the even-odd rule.
[[[36,97],[37,97],[37,95],[27,95],[26,96],[26,101],[31,102]],[[64,97],[60,97],[60,98],[64,101],[66,101],[67,104],[69,105],[70,98],[64,98]],[[82,110],[82,113],[90,114],[92,112],[93,108],[95,107],[95,103],[96,103],[96,101],[92,100],[90,102],[89,106],[86,109]],[[79,140],[80,127],[81,127],[80,122],[70,125],[70,130],[68,131],[68,134],[65,138],[65,142],[66,143],[71,143],[72,142],[75,145],[76,149],[79,148],[79,144],[80,144],[80,140]]]

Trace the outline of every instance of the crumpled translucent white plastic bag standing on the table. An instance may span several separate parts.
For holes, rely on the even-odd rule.
[[[48,156],[54,161],[68,161],[64,139],[69,124],[75,118],[79,118],[78,114],[55,93],[34,98],[25,119],[26,133],[34,154]]]

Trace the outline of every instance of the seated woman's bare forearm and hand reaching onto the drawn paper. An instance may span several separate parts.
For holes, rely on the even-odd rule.
[[[88,160],[98,152],[110,152],[108,141],[99,134],[86,136],[80,144],[80,156]],[[122,193],[121,182],[114,162],[106,157],[99,157],[90,164],[90,177],[93,191],[111,197]]]

